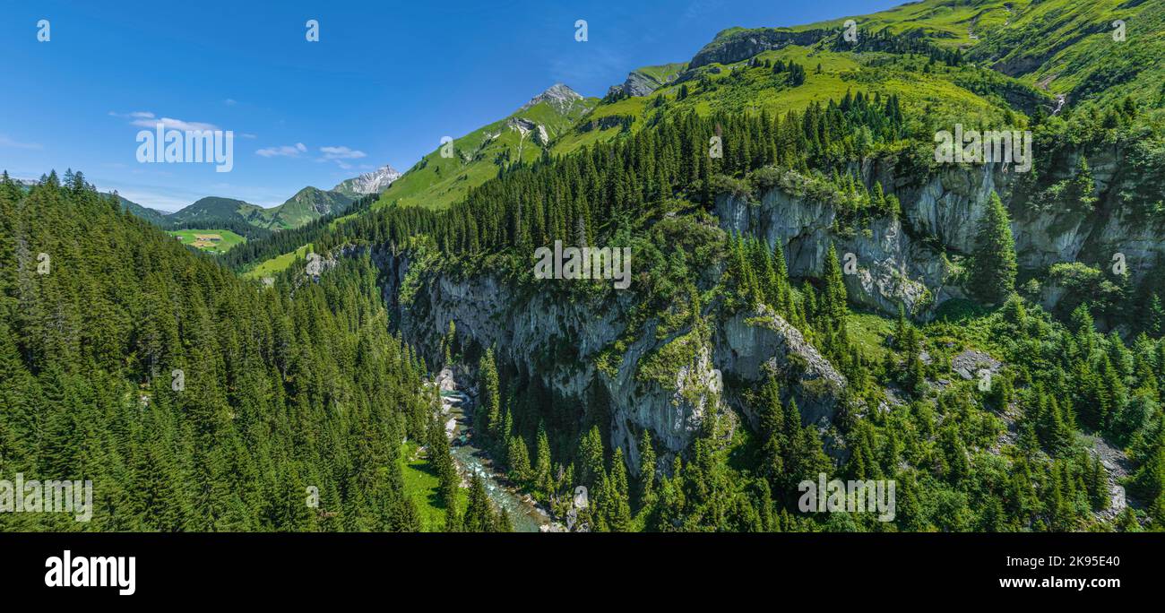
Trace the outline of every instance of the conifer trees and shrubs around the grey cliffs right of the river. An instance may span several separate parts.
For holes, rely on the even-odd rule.
[[[598,492],[593,521],[600,529],[890,527],[835,523],[840,516],[819,524],[795,513],[796,484],[822,470],[854,479],[894,478],[901,489],[892,526],[903,530],[1138,528],[1131,508],[1123,509],[1118,523],[1106,514],[1116,477],[1101,466],[1100,448],[1090,438],[1096,435],[1128,446],[1130,495],[1152,505],[1150,514],[1159,517],[1165,449],[1157,386],[1165,374],[1159,306],[1148,318],[1129,319],[1137,326],[1132,331],[1143,333],[1127,343],[1097,332],[1087,306],[1062,325],[1038,305],[1009,298],[1015,252],[997,197],[995,217],[980,221],[980,251],[967,275],[968,291],[981,304],[1002,308],[991,312],[967,302],[972,311],[948,311],[922,326],[903,315],[883,325],[853,313],[832,247],[820,273],[792,283],[781,244],[734,237],[709,223],[705,211],[718,199],[778,188],[831,204],[852,232],[896,218],[902,214],[897,198],[878,183],[869,188],[847,174],[845,160],[876,155],[904,135],[903,126],[895,98],[862,93],[826,108],[811,106],[804,117],[679,115],[616,145],[514,169],[447,213],[393,209],[339,226],[316,245],[324,252],[352,241],[411,246],[408,274],[394,288],[401,293],[400,317],[442,313],[430,330],[436,333],[418,339],[436,351],[432,360],[442,359],[437,347],[452,347],[447,362],[478,365],[488,355],[481,366],[502,373],[501,392],[482,393],[496,406],[479,420],[480,431],[495,442],[496,458],[509,466],[511,479],[548,502],[570,491],[572,479]],[[725,156],[709,160],[702,143],[718,127]],[[853,136],[863,133],[873,136],[864,152]],[[534,281],[528,254],[555,240],[631,245],[641,262],[634,303],[601,282],[548,287]],[[589,312],[614,309],[612,343],[587,350],[567,323],[567,336],[544,333],[534,347],[499,347],[506,361],[495,361],[485,350],[506,334],[482,332],[478,326],[485,320],[458,319],[480,304],[458,309],[433,302],[450,298],[431,288],[479,274],[516,284],[502,296],[520,303],[529,293],[549,293],[557,296],[551,302]],[[1157,295],[1153,283],[1138,295]],[[1137,304],[1122,301],[1104,311],[1139,312]],[[820,434],[802,428],[813,421],[799,414],[800,392],[786,389],[799,383],[788,372],[729,386],[726,395],[735,399],[725,408],[735,406],[739,413],[706,414],[678,449],[658,441],[652,427],[615,439],[617,430],[608,431],[607,421],[617,422],[626,410],[609,397],[615,390],[584,386],[571,397],[546,381],[559,368],[589,365],[593,376],[624,386],[673,385],[676,368],[712,347],[718,327],[730,325],[737,313],[760,317],[765,312],[760,309],[796,325],[847,381],[833,423]],[[463,324],[456,330],[472,323],[474,332],[439,337],[446,317]],[[644,334],[662,341],[657,353],[634,364],[629,348]],[[989,392],[952,372],[952,360],[966,360],[967,351],[996,364]],[[626,367],[636,373],[630,381],[619,379]],[[699,386],[678,393],[708,402],[718,395]],[[832,460],[821,435],[832,439]],[[636,484],[626,474],[629,455],[633,468],[654,465],[658,456],[671,459],[656,466],[658,474],[641,472]],[[854,517],[847,521],[864,520]]]

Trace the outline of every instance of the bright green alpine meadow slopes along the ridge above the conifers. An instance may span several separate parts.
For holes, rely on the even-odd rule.
[[[536,99],[535,104],[509,118],[454,140],[452,157],[442,157],[439,149],[426,155],[397,179],[373,209],[391,203],[445,207],[463,198],[471,188],[496,176],[499,168],[517,160],[537,158],[544,145],[531,132],[523,135],[515,126],[516,120],[545,126],[550,153],[566,155],[584,146],[642,129],[657,114],[685,111],[704,115],[762,111],[784,114],[802,111],[814,103],[827,104],[847,92],[857,91],[882,97],[897,96],[906,115],[912,121],[925,124],[913,126],[915,131],[922,132],[949,129],[954,122],[1022,122],[1022,118],[1010,118],[1008,111],[1032,114],[1040,107],[1048,110],[1055,106],[1055,93],[1073,89],[1082,92],[1100,80],[1109,83],[1123,78],[1128,83],[1123,90],[1118,86],[1103,93],[1106,97],[1130,89],[1149,96],[1156,93],[1159,83],[1165,80],[1157,78],[1153,82],[1158,71],[1165,68],[1152,62],[1137,62],[1137,71],[1130,77],[1131,69],[1121,68],[1128,66],[1130,61],[1111,56],[1149,44],[1137,42],[1137,36],[1149,37],[1146,33],[1159,34],[1165,29],[1159,27],[1162,3],[1124,3],[1136,6],[1116,8],[1118,0],[1094,3],[1069,0],[924,0],[871,15],[793,28],[729,28],[718,34],[700,54],[707,57],[708,49],[740,47],[741,41],[756,38],[754,35],[757,33],[785,37],[783,48],[762,50],[754,57],[762,63],[796,62],[806,70],[805,83],[790,85],[783,75],[775,75],[764,68],[750,68],[747,59],[728,64],[704,62],[694,69],[687,68],[689,64],[642,68],[636,72],[662,82],[671,76],[677,78],[648,97],[602,103],[585,99],[566,112]],[[1114,15],[1128,17],[1130,40],[1127,47],[1114,49],[1106,43],[1106,40],[1111,42],[1109,30],[1104,29],[1106,21]],[[930,63],[923,55],[847,51],[832,44],[847,19],[854,19],[864,31],[889,28],[940,47],[962,48],[969,61],[961,66],[947,66],[941,62]],[[1087,24],[1092,26],[1085,27]],[[790,43],[790,36],[800,36],[799,42],[804,44]],[[1038,42],[1021,44],[1028,38]],[[1158,42],[1152,44],[1162,44],[1162,37],[1158,35],[1156,38]],[[1031,51],[1015,51],[1021,48],[1058,51],[1030,58]],[[1160,50],[1151,52],[1165,55]],[[1139,54],[1142,51],[1131,52],[1129,57],[1136,59]],[[1081,65],[1053,73],[1057,66],[1075,64]],[[1113,71],[1117,75],[1113,76]],[[1101,78],[1102,75],[1109,76],[1107,80]],[[1150,83],[1151,86],[1146,85]],[[682,87],[689,92],[684,99],[679,99]],[[281,258],[276,260],[290,260],[294,254]],[[277,265],[275,261],[268,263],[270,267]]]

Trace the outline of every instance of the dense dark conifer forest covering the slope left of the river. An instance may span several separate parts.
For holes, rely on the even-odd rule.
[[[418,529],[398,453],[431,400],[367,260],[243,282],[77,172],[5,175],[0,261],[0,471],[94,506],[0,529]]]

